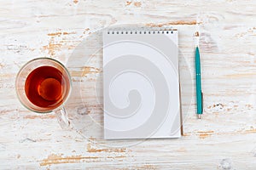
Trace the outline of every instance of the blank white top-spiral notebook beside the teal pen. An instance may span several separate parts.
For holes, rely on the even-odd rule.
[[[103,31],[104,138],[179,138],[177,30]]]

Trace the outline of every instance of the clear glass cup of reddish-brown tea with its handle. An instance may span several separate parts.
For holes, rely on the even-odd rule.
[[[24,65],[15,82],[20,103],[38,113],[54,111],[62,128],[70,126],[64,104],[71,94],[72,81],[67,68],[50,58],[32,59]]]

